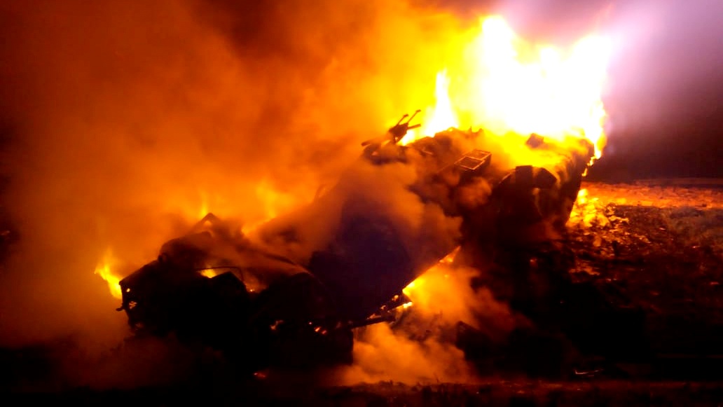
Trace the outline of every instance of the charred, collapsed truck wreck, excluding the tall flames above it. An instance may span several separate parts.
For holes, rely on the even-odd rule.
[[[120,281],[119,311],[136,333],[219,349],[249,372],[348,363],[354,329],[393,320],[402,289],[450,252],[482,265],[562,231],[589,141],[451,128],[401,145],[413,118],[252,234],[207,215]]]

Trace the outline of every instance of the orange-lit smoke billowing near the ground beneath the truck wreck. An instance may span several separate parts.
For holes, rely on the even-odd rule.
[[[340,368],[335,385],[393,380],[410,384],[475,382],[479,379],[455,346],[458,322],[480,330],[498,346],[528,322],[487,288],[472,288],[479,275],[469,267],[440,263],[406,291],[414,301],[393,326],[378,324],[356,333],[354,364]]]

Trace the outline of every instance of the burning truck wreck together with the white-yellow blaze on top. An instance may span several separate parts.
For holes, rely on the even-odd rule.
[[[309,205],[269,211],[243,232],[209,215],[166,243],[121,280],[130,324],[254,370],[351,360],[354,329],[393,320],[400,305],[420,309],[403,289],[442,259],[479,270],[466,288],[489,287],[526,316],[535,301],[554,302],[531,289],[541,258],[530,253],[560,251],[604,146],[607,42],[583,38],[568,54],[523,46],[501,17],[480,19],[464,39],[437,72],[434,102],[410,96],[427,106],[424,126],[416,111],[363,142]],[[567,270],[551,259],[555,291]],[[479,343],[466,332],[458,343]]]

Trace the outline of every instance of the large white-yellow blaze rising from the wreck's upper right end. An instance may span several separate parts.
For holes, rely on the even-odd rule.
[[[437,74],[436,105],[425,111],[424,130],[403,142],[449,127],[474,127],[498,135],[586,137],[599,158],[607,48],[606,40],[594,36],[568,52],[535,46],[518,38],[502,17],[483,18],[456,66]]]

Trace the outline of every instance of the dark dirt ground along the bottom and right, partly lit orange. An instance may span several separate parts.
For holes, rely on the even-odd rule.
[[[33,350],[0,350],[0,389],[27,402],[74,405],[294,406],[720,406],[723,404],[723,183],[647,180],[583,184],[566,246],[575,283],[637,309],[651,357],[615,365],[617,374],[567,380],[480,378],[474,384],[310,387],[299,380],[193,380],[131,390],[30,390],[46,360]],[[617,300],[616,300],[617,298]],[[617,301],[617,302],[616,302]],[[625,326],[620,327],[621,330]],[[624,334],[624,333],[623,333]],[[32,387],[30,387],[32,388]],[[8,399],[9,400],[9,399]]]

